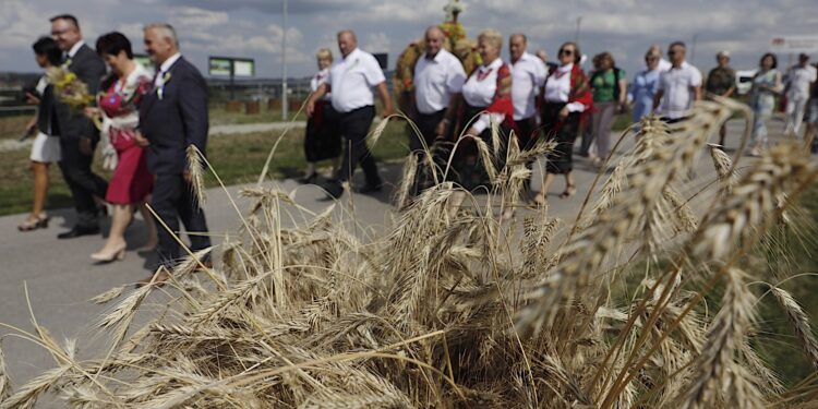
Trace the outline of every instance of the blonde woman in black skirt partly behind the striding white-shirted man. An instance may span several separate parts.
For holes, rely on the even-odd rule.
[[[310,81],[310,91],[315,92],[318,86],[326,82],[329,75],[329,67],[333,64],[333,51],[328,48],[322,48],[315,53],[318,62],[318,72]],[[330,94],[324,95],[321,100],[315,103],[315,111],[306,121],[306,132],[304,133],[304,156],[306,157],[306,172],[301,178],[301,183],[313,183],[318,177],[315,170],[315,164],[324,159],[333,159],[333,172],[338,169],[338,159],[340,158],[341,143],[335,120],[336,112],[333,105],[329,104]]]

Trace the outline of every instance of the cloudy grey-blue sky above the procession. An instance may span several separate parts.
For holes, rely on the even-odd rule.
[[[611,51],[629,74],[646,48],[697,38],[694,63],[713,65],[720,49],[733,65],[748,69],[770,49],[775,35],[808,35],[818,27],[816,0],[464,0],[460,21],[469,36],[486,27],[504,35],[522,32],[529,50],[553,56],[573,39],[581,16],[580,46],[587,55]],[[330,47],[335,33],[353,28],[359,45],[388,52],[389,65],[425,26],[444,19],[447,0],[290,0],[287,60],[290,76],[315,70],[314,52]],[[0,72],[36,71],[31,44],[49,32],[48,17],[63,12],[80,19],[86,39],[120,31],[141,51],[144,23],[167,21],[181,38],[182,52],[200,69],[207,56],[254,58],[257,76],[281,75],[282,0],[0,0]],[[507,49],[503,50],[507,57]],[[818,57],[818,56],[816,56]],[[781,63],[786,56],[780,56]]]

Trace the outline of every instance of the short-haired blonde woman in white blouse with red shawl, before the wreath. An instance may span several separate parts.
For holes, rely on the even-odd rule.
[[[501,140],[514,128],[512,104],[512,71],[500,58],[503,36],[486,29],[478,36],[478,51],[483,64],[478,67],[462,86],[464,109],[460,123],[468,127],[467,136],[480,137],[492,146],[491,123],[500,125]],[[501,147],[500,158],[505,156]],[[457,147],[454,170],[460,185],[467,190],[491,184],[485,168],[478,158],[477,145],[465,140]],[[450,172],[450,171],[449,171]]]

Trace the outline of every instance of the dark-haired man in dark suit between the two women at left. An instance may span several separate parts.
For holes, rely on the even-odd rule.
[[[65,51],[63,65],[88,86],[88,93],[96,95],[99,82],[105,75],[105,63],[97,53],[83,41],[80,24],[71,14],[60,14],[50,20],[51,37]],[[63,107],[64,108],[64,107]],[[67,115],[61,122],[60,169],[65,179],[76,208],[76,224],[71,230],[57,236],[71,239],[99,233],[99,206],[97,200],[105,199],[108,183],[91,170],[94,149],[99,142],[99,130],[83,115],[82,109],[61,109]],[[96,200],[95,200],[96,197]]]

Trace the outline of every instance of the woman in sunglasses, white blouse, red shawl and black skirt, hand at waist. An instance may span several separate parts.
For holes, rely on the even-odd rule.
[[[545,204],[545,195],[557,175],[565,176],[565,191],[560,197],[576,193],[572,175],[574,141],[577,139],[580,113],[591,108],[593,95],[582,69],[581,53],[574,43],[560,47],[560,67],[545,79],[543,86],[542,129],[546,140],[556,147],[548,155],[542,188],[534,196],[537,204]]]

